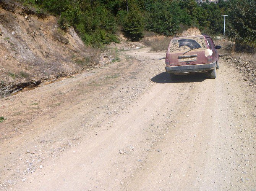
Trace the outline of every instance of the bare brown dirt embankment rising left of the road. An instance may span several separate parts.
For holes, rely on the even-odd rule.
[[[100,53],[56,17],[9,0],[0,1],[0,51],[0,96],[92,68]]]

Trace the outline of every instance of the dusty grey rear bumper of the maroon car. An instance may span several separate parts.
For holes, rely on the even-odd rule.
[[[183,65],[183,66],[167,66],[165,67],[168,73],[188,73],[188,72],[206,72],[206,70],[212,70],[216,67],[216,62],[210,64],[195,64],[195,65]]]

